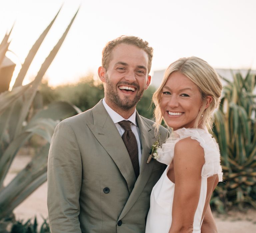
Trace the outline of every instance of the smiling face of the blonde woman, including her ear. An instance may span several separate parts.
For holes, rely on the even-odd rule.
[[[208,107],[212,97],[207,96],[206,101]],[[179,72],[174,72],[162,89],[160,105],[166,124],[176,130],[194,126],[203,100],[198,87],[191,80]]]

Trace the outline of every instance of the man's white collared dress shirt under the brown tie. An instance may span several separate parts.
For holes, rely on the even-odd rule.
[[[137,121],[136,121],[136,110],[134,111],[134,113],[132,114],[132,116],[130,116],[128,119],[125,119],[124,117],[120,116],[117,112],[115,112],[113,109],[111,109],[106,101],[105,98],[102,101],[103,106],[105,107],[108,115],[110,116],[110,118],[113,120],[113,122],[116,125],[116,128],[118,130],[118,132],[120,133],[120,136],[122,137],[123,133],[124,133],[124,129],[121,127],[120,124],[118,124],[118,122],[122,121],[122,120],[130,120],[131,123],[131,128],[132,128],[132,132],[134,133],[136,140],[137,140],[137,144],[138,144],[138,155],[139,155],[139,165],[141,162],[141,143],[140,143],[140,129],[138,127]]]

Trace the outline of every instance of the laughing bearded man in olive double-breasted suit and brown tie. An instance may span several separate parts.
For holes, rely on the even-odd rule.
[[[150,84],[153,49],[122,36],[109,42],[98,69],[105,98],[63,120],[48,160],[48,212],[52,233],[143,233],[152,187],[164,165],[146,163],[155,137],[153,121],[136,112]]]

